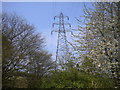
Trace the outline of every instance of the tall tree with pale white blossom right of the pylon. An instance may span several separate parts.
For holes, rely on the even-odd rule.
[[[75,50],[82,60],[83,69],[92,74],[107,74],[118,78],[119,7],[114,2],[99,2],[94,8],[84,10],[84,26],[79,25],[78,35],[73,35]],[[80,20],[78,19],[78,22]],[[80,36],[80,33],[83,36]],[[81,52],[84,51],[82,54]],[[116,79],[115,79],[116,81]]]

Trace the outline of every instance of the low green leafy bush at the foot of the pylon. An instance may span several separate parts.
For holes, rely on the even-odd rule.
[[[42,81],[42,88],[113,88],[110,78],[89,75],[76,68],[52,71],[52,75]]]

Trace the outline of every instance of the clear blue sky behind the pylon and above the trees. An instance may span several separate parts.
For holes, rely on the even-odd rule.
[[[91,7],[90,2],[85,2],[88,7]],[[52,28],[54,22],[58,22],[58,19],[54,21],[54,16],[58,16],[61,12],[69,17],[69,21],[72,29],[77,29],[79,25],[75,18],[80,18],[84,15],[83,12],[84,2],[3,2],[2,11],[7,13],[16,13],[17,15],[25,18],[27,22],[34,24],[36,32],[42,33],[45,37],[46,47],[45,49],[55,57],[57,46],[57,34],[51,31],[57,28]],[[67,39],[70,39],[70,35],[67,34]]]

